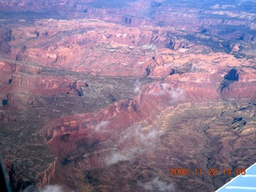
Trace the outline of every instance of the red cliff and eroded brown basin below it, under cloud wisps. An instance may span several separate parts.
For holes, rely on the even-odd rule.
[[[245,153],[226,154],[236,154],[241,143],[243,149],[254,147],[255,103],[250,98],[256,90],[254,79],[246,89],[238,82],[219,93],[220,82],[214,81],[218,82],[170,78],[143,86],[137,98],[114,103],[98,114],[50,122],[43,132],[59,169],[48,176],[49,182],[64,184],[67,179],[71,189],[81,191],[147,191],[145,183],[160,177],[166,187],[171,186],[169,191],[216,190],[230,178],[206,175],[208,169],[222,173],[223,167],[253,163]],[[171,167],[199,167],[204,174],[170,177]]]

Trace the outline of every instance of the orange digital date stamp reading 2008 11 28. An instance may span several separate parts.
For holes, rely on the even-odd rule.
[[[223,168],[222,170],[218,170],[217,168],[208,168],[206,171],[202,170],[202,168],[170,168],[170,175],[209,175],[209,176],[217,176],[217,175],[231,175],[231,174],[246,174],[245,168],[237,168],[232,170],[231,168],[226,169]]]

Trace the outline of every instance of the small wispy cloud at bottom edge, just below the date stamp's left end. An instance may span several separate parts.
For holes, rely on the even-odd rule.
[[[172,192],[174,191],[174,185],[169,182],[162,182],[159,178],[154,178],[150,182],[138,182],[138,186],[142,186],[145,190]]]

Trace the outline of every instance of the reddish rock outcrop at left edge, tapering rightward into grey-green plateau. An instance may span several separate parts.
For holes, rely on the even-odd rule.
[[[39,66],[20,65],[2,62],[2,106],[15,106],[20,109],[42,104],[38,96],[66,94],[73,79],[44,74]],[[10,118],[3,118],[10,119]],[[12,118],[11,118],[12,119]]]

